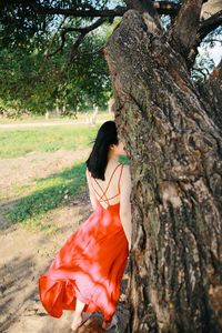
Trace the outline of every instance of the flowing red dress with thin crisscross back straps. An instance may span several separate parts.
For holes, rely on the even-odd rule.
[[[85,303],[85,312],[101,311],[105,321],[115,312],[129,250],[120,221],[120,203],[110,205],[105,193],[119,167],[120,193],[123,164],[114,169],[95,211],[69,236],[49,271],[39,279],[41,302],[52,316],[60,317],[63,310],[74,310],[77,297]],[[108,209],[100,200],[108,203]]]

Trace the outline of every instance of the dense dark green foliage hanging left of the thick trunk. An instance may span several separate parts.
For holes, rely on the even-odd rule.
[[[110,95],[110,80],[101,49],[108,27],[104,26],[99,33],[88,34],[80,53],[72,63],[68,63],[78,34],[68,34],[63,51],[47,58],[46,53],[54,52],[61,43],[57,33],[61,18],[37,22],[33,17],[31,26],[26,27],[24,22],[18,22],[19,14],[17,12],[11,19],[8,14],[1,20],[0,113],[9,117],[23,112],[43,114],[47,110],[59,108],[69,114],[93,103],[104,107]],[[71,23],[73,19],[67,22],[65,28]],[[75,19],[75,24],[82,22]]]

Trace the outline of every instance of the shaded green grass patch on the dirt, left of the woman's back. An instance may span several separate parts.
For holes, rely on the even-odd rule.
[[[7,219],[13,223],[23,223],[28,220],[33,225],[41,226],[41,218],[47,212],[68,205],[75,196],[85,192],[85,163],[77,163],[61,173],[36,180],[36,190],[21,199],[10,201],[12,206]],[[84,193],[85,194],[85,193]],[[85,195],[84,195],[85,196]],[[0,229],[9,228],[9,223]],[[48,228],[42,225],[42,229]]]

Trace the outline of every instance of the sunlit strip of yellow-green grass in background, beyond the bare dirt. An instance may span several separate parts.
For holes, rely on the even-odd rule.
[[[53,152],[89,147],[99,125],[0,130],[0,158],[23,157],[32,151]]]

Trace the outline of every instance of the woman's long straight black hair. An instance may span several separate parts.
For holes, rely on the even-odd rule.
[[[105,121],[98,131],[94,145],[85,162],[93,178],[104,180],[109,148],[111,144],[118,143],[118,131],[114,121]]]

